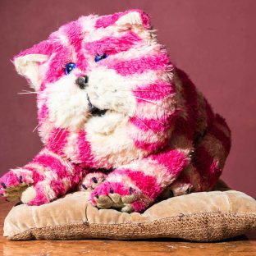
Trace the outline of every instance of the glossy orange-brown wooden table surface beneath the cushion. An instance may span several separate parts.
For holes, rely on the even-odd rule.
[[[0,202],[0,255],[256,255],[256,231],[235,240],[217,243],[191,243],[182,240],[31,240],[10,241],[2,236],[4,218],[12,204]]]

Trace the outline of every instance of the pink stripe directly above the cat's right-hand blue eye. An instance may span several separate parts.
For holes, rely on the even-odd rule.
[[[102,55],[103,53],[107,53],[107,55],[109,55],[125,52],[138,41],[141,41],[141,39],[139,39],[139,37],[133,31],[129,31],[121,37],[107,36],[98,41],[86,43],[85,49],[90,54]]]

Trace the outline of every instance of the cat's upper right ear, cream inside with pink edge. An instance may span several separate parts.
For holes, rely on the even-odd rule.
[[[130,10],[124,12],[117,21],[117,25],[131,28],[133,26],[141,26],[144,29],[150,29],[149,16],[141,10]]]

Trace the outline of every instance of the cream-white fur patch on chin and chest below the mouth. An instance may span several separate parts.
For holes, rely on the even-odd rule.
[[[147,154],[135,148],[133,139],[128,135],[127,121],[128,117],[121,113],[107,112],[105,116],[91,118],[85,124],[87,139],[100,167],[119,167]],[[104,126],[112,129],[104,134]]]

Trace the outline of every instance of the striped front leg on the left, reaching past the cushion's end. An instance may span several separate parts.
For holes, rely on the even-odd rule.
[[[1,177],[0,193],[7,200],[22,199],[30,205],[48,203],[74,189],[82,172],[81,167],[43,149],[25,167]]]

